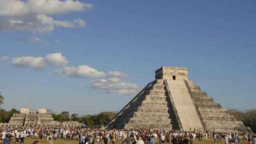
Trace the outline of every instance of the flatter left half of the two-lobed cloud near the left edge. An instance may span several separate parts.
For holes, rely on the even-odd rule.
[[[12,58],[12,64],[18,67],[31,67],[35,70],[43,69],[46,65],[45,61],[41,57],[23,56],[18,58]]]

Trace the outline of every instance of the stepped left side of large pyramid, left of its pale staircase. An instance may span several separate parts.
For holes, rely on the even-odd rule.
[[[172,128],[163,80],[150,82],[108,124],[110,128]]]

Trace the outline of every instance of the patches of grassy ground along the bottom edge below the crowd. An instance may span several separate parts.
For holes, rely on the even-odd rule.
[[[24,141],[24,144],[33,144],[34,142],[34,138],[26,138]],[[48,142],[43,139],[43,140],[39,140],[40,144],[48,144]],[[0,142],[0,144],[3,144],[3,142]],[[63,139],[58,139],[57,141],[54,141],[54,144],[78,144],[77,140],[63,140]],[[100,143],[102,144],[102,143]],[[110,143],[109,143],[110,144]],[[116,144],[121,144],[121,142],[117,141]],[[168,144],[168,143],[164,143],[164,144]],[[207,141],[195,141],[194,144],[223,144],[223,142],[218,141],[216,143],[214,143],[213,139],[208,139]],[[240,144],[246,144],[246,142],[240,142]]]

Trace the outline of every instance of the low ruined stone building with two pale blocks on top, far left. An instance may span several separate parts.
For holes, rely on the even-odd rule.
[[[77,127],[84,126],[79,122],[58,122],[54,121],[52,114],[47,112],[46,108],[39,108],[35,110],[29,110],[29,108],[20,108],[20,114],[13,114],[8,125],[16,126],[65,126],[65,127]]]

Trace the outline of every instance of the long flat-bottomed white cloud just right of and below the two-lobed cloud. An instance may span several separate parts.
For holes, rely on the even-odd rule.
[[[55,72],[60,76],[68,77],[104,77],[106,74],[100,72],[90,66],[81,65],[81,66],[67,66],[66,68],[55,70]]]

